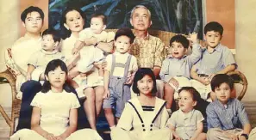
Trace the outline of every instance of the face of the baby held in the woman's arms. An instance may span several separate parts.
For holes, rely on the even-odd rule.
[[[93,33],[96,33],[96,34],[102,33],[105,28],[106,28],[106,25],[104,25],[103,19],[101,17],[91,18],[91,31]]]

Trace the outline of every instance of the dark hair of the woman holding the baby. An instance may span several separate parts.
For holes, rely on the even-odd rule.
[[[70,37],[71,35],[71,31],[70,30],[67,30],[66,27],[64,27],[64,24],[66,23],[66,14],[70,11],[78,11],[78,13],[82,16],[82,18],[84,19],[84,21],[86,21],[86,15],[84,14],[84,12],[82,11],[82,9],[79,9],[78,7],[76,6],[72,6],[72,7],[67,7],[63,13],[62,13],[62,16],[61,16],[61,20],[60,20],[60,27],[63,29],[64,31],[64,36],[63,36],[63,40],[65,40],[66,38]],[[84,24],[84,27],[85,27],[85,24]]]

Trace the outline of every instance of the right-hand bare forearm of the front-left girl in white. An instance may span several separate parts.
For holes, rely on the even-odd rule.
[[[62,139],[66,139],[66,137],[69,137],[74,131],[77,130],[78,125],[78,109],[72,108],[69,113],[69,126],[66,128],[66,131],[62,133],[61,135],[57,136],[61,137]]]

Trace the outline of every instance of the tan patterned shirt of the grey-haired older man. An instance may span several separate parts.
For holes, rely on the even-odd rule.
[[[130,53],[137,58],[139,68],[162,66],[165,58],[165,44],[157,37],[147,33],[143,40],[135,38]]]

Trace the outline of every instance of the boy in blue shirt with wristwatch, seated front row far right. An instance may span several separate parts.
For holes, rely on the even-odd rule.
[[[239,100],[230,97],[234,88],[233,79],[226,74],[217,74],[210,86],[217,99],[206,108],[207,139],[248,139],[251,125],[246,110]]]

